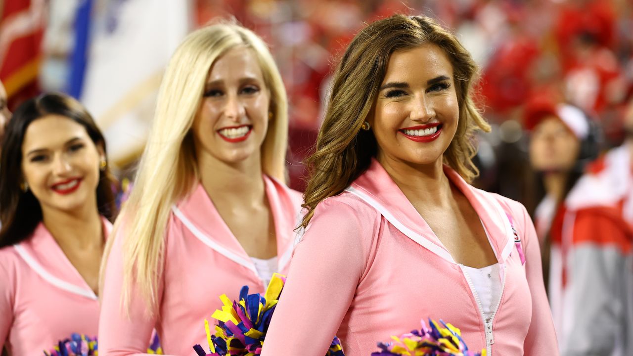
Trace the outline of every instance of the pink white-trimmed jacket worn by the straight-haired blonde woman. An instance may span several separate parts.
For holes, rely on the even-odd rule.
[[[264,176],[264,181],[275,222],[279,271],[285,273],[303,198],[270,177]],[[117,234],[106,266],[99,321],[101,356],[145,355],[154,327],[167,355],[193,355],[194,345],[208,345],[204,319],[213,324],[211,314],[222,307],[220,295],[226,293],[229,299],[237,300],[244,285],[249,286],[249,293],[265,291],[253,261],[201,184],[172,207],[166,227],[158,310],[153,310],[152,317],[138,290],[132,291],[128,316],[121,306],[122,243],[123,236]]]

